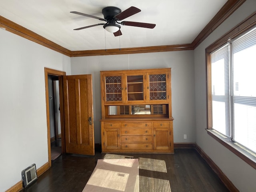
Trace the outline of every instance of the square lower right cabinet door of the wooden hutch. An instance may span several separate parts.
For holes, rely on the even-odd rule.
[[[154,149],[170,149],[170,128],[154,128]]]

